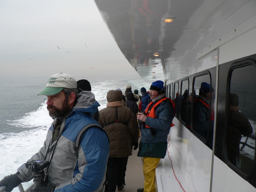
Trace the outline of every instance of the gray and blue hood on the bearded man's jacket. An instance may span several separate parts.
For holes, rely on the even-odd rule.
[[[91,91],[82,91],[77,95],[77,102],[73,110],[76,113],[90,113],[93,115],[99,106],[101,105],[95,100],[95,95]]]

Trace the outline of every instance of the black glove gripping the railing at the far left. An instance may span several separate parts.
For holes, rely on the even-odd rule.
[[[8,175],[0,181],[0,187],[5,186],[5,191],[12,191],[13,188],[17,187],[22,181],[18,177],[19,172]]]

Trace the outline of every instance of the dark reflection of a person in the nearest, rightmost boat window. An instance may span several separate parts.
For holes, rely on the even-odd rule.
[[[252,134],[252,126],[248,118],[238,108],[239,98],[237,94],[229,96],[229,121],[227,128],[227,155],[229,160],[236,165],[236,159],[240,154],[240,140],[243,136]]]

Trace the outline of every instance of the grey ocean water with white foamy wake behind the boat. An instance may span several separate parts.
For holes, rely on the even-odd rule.
[[[145,87],[139,76],[90,76],[76,77],[87,79],[91,83],[95,99],[106,107],[106,94],[109,90],[120,88],[125,92],[130,84],[132,91]],[[49,77],[40,78],[0,78],[0,180],[17,172],[19,166],[26,163],[43,146],[46,133],[52,123],[46,109],[46,96],[37,95],[44,89]],[[33,181],[23,183],[26,189]],[[19,191],[15,188],[14,191]]]

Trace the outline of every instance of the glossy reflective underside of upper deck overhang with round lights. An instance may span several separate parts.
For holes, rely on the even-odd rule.
[[[142,78],[175,80],[209,67],[189,61],[196,60],[196,53],[233,29],[229,18],[250,2],[95,0],[95,3],[121,52]],[[174,18],[173,22],[163,22],[166,17]],[[250,17],[248,13],[239,18],[237,25]]]

